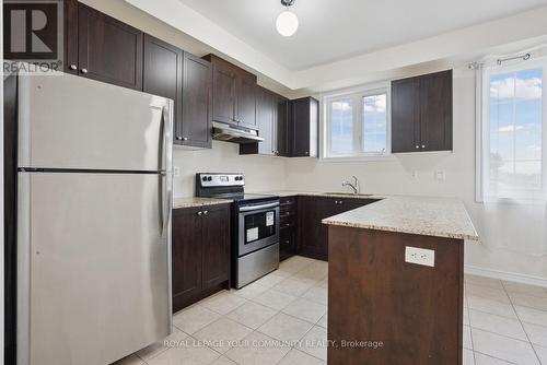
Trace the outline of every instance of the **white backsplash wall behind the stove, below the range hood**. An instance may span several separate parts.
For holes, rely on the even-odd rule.
[[[181,170],[174,180],[175,197],[193,197],[196,173],[243,173],[247,191],[284,189],[286,161],[268,156],[242,156],[235,143],[213,141],[212,150],[175,148],[173,165]]]

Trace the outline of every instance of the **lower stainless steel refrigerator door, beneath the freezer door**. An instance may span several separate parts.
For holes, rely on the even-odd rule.
[[[171,331],[170,179],[20,174],[19,365],[104,365]]]

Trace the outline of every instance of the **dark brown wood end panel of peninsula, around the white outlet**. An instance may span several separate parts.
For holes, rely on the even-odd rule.
[[[463,239],[328,229],[328,364],[461,365]],[[406,246],[434,267],[405,262]]]

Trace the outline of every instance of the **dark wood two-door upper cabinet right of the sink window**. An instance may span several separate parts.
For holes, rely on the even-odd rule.
[[[452,70],[392,82],[392,152],[452,150]]]

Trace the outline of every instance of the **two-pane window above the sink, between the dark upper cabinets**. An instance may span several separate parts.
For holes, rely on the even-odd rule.
[[[388,153],[388,90],[325,98],[324,157],[364,157]]]

